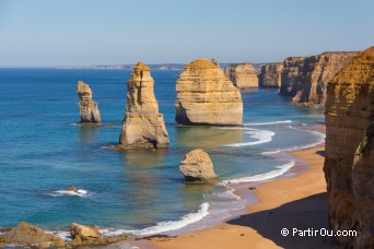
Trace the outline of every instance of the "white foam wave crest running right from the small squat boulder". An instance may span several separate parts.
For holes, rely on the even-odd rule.
[[[243,183],[243,182],[252,182],[252,181],[264,181],[269,180],[276,177],[279,177],[287,173],[290,168],[292,168],[295,165],[294,161],[291,161],[284,165],[277,166],[274,170],[255,175],[255,176],[248,176],[248,177],[242,177],[237,179],[231,179],[231,180],[224,180],[224,183]]]

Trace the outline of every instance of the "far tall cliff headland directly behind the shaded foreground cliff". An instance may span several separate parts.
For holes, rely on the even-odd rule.
[[[325,105],[326,86],[357,52],[324,52],[304,59],[299,80],[293,85],[292,104]]]

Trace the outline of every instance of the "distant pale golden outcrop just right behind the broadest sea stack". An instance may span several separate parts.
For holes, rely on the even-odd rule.
[[[224,73],[238,88],[258,87],[258,76],[249,63],[231,64]]]

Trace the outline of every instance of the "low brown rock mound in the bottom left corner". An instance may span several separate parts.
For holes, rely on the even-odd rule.
[[[16,227],[0,236],[3,244],[39,246],[39,247],[63,247],[62,239],[47,234],[39,227],[33,226],[26,222],[21,222]],[[1,245],[0,245],[1,247]]]

